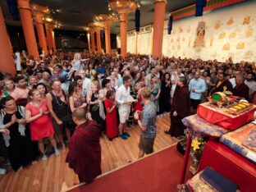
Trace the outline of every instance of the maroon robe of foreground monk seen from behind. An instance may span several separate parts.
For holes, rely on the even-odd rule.
[[[100,127],[95,121],[77,126],[69,143],[66,162],[79,176],[80,182],[90,183],[101,171]]]

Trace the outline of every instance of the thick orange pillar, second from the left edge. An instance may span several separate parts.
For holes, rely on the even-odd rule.
[[[29,55],[39,58],[39,50],[37,48],[34,35],[34,26],[32,22],[30,0],[18,0],[18,8],[21,17],[21,24],[25,35],[25,44]]]

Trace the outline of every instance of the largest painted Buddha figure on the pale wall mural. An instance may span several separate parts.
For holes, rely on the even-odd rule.
[[[198,27],[196,29],[196,38],[194,40],[194,48],[196,52],[201,52],[202,48],[205,47],[205,41],[204,41],[204,36],[205,36],[205,22],[200,21],[198,24]]]

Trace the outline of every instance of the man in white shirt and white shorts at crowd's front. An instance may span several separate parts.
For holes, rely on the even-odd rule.
[[[129,118],[130,105],[132,100],[132,97],[130,96],[131,83],[132,83],[132,80],[130,75],[125,75],[123,77],[123,85],[121,85],[117,89],[117,94],[116,94],[116,100],[117,100],[117,103],[119,104],[118,112],[119,112],[120,123],[119,123],[118,129],[119,129],[119,136],[121,137],[121,139],[127,139],[128,137],[130,137],[130,135],[126,133],[125,130],[127,127],[126,121]]]

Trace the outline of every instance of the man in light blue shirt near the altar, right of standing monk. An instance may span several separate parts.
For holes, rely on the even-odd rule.
[[[194,74],[194,79],[190,80],[189,85],[190,90],[190,106],[193,108],[191,111],[193,114],[196,113],[196,109],[201,102],[203,93],[206,90],[206,84],[203,79],[200,78],[200,72],[196,71]]]

